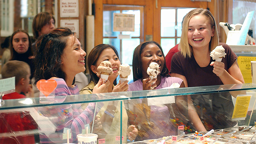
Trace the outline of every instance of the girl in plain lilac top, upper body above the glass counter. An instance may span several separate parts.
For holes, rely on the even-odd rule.
[[[150,80],[147,74],[147,69],[151,62],[156,62],[160,70],[157,78],[152,80]],[[169,87],[173,83],[178,83],[180,87],[185,87],[182,79],[170,77],[163,49],[160,44],[154,41],[143,42],[135,48],[132,59],[132,71],[133,83],[129,84],[128,91],[161,89]]]

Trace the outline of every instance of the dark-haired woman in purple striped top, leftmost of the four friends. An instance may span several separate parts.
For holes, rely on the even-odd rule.
[[[68,28],[56,28],[49,34],[39,37],[36,49],[35,84],[41,79],[55,79],[57,87],[52,94],[55,96],[54,103],[74,99],[68,95],[79,94],[77,85],[74,85],[75,75],[85,70],[84,57],[86,55],[76,35]],[[95,85],[92,93],[107,90],[109,83],[101,83],[102,79]],[[56,126],[56,132],[48,136],[50,140],[53,140],[51,138],[54,137],[54,140],[49,141],[47,138],[40,137],[40,142],[64,142],[65,140],[62,141],[61,139],[64,128],[70,129],[71,141],[76,141],[76,135],[85,129],[84,125],[93,121],[94,110],[97,114],[102,106],[103,103],[99,102],[97,108],[95,108],[95,103],[89,103],[85,110],[81,108],[80,104],[38,108],[44,116],[49,116],[49,119]],[[53,118],[55,115],[57,117]],[[101,128],[101,123],[96,116],[93,130]]]

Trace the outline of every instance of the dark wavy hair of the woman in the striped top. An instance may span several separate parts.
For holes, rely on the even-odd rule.
[[[35,53],[35,84],[41,79],[51,77],[63,78],[66,81],[66,74],[61,70],[61,55],[70,36],[76,35],[69,28],[56,28],[38,38]]]

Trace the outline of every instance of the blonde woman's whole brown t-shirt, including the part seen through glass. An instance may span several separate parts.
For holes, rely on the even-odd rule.
[[[236,61],[237,56],[227,44],[220,43],[220,45],[224,47],[225,53],[227,53],[221,62],[225,64],[225,69],[228,70]],[[215,60],[211,58],[210,63],[212,61]],[[220,78],[212,72],[213,66],[210,66],[210,63],[207,67],[202,68],[196,63],[193,54],[191,58],[184,58],[181,52],[176,52],[172,57],[170,72],[185,76],[188,87],[223,84]],[[229,92],[191,95],[196,111],[201,120],[204,121],[203,124],[207,131],[232,127],[237,123],[230,121],[234,109],[231,97]]]

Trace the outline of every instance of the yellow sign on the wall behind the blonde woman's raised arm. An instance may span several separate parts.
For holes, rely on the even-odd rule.
[[[242,72],[245,83],[252,83],[251,61],[255,61],[256,57],[239,56],[237,58],[238,66]]]

